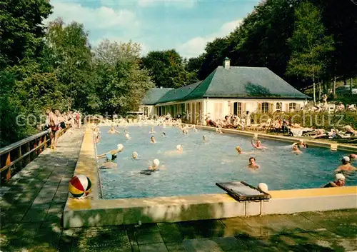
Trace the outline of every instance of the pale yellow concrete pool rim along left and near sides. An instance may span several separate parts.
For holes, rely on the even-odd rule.
[[[255,135],[250,132],[249,134]],[[261,137],[261,134],[259,136]],[[294,140],[290,138],[290,141]],[[93,189],[88,198],[67,199],[63,214],[64,228],[124,225],[139,221],[142,223],[193,221],[357,207],[357,186],[270,191],[271,200],[261,202],[238,202],[225,193],[100,199],[96,187],[98,171],[90,126],[86,128],[84,134],[79,161],[74,171],[74,175],[76,174],[88,176],[93,183]]]

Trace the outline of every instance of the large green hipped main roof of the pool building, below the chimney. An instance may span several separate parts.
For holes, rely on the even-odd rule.
[[[218,66],[185,100],[201,98],[310,99],[266,67]]]

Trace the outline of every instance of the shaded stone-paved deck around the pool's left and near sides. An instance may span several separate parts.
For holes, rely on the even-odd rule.
[[[0,251],[357,251],[357,208],[64,230],[83,135],[66,133],[0,188]]]

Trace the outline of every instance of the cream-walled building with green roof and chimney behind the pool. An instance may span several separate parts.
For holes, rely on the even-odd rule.
[[[241,116],[246,111],[296,111],[308,99],[309,96],[268,68],[230,66],[230,60],[226,58],[223,66],[218,66],[203,81],[167,90],[151,104],[154,104],[152,114],[162,116],[169,113],[174,117],[181,114],[190,123],[205,124],[208,116],[216,120],[228,114]],[[146,103],[145,98],[143,106]]]

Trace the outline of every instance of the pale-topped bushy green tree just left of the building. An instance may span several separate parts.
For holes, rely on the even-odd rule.
[[[140,45],[104,40],[95,51],[96,89],[101,113],[137,111],[146,91],[154,87],[149,73],[139,67]]]

